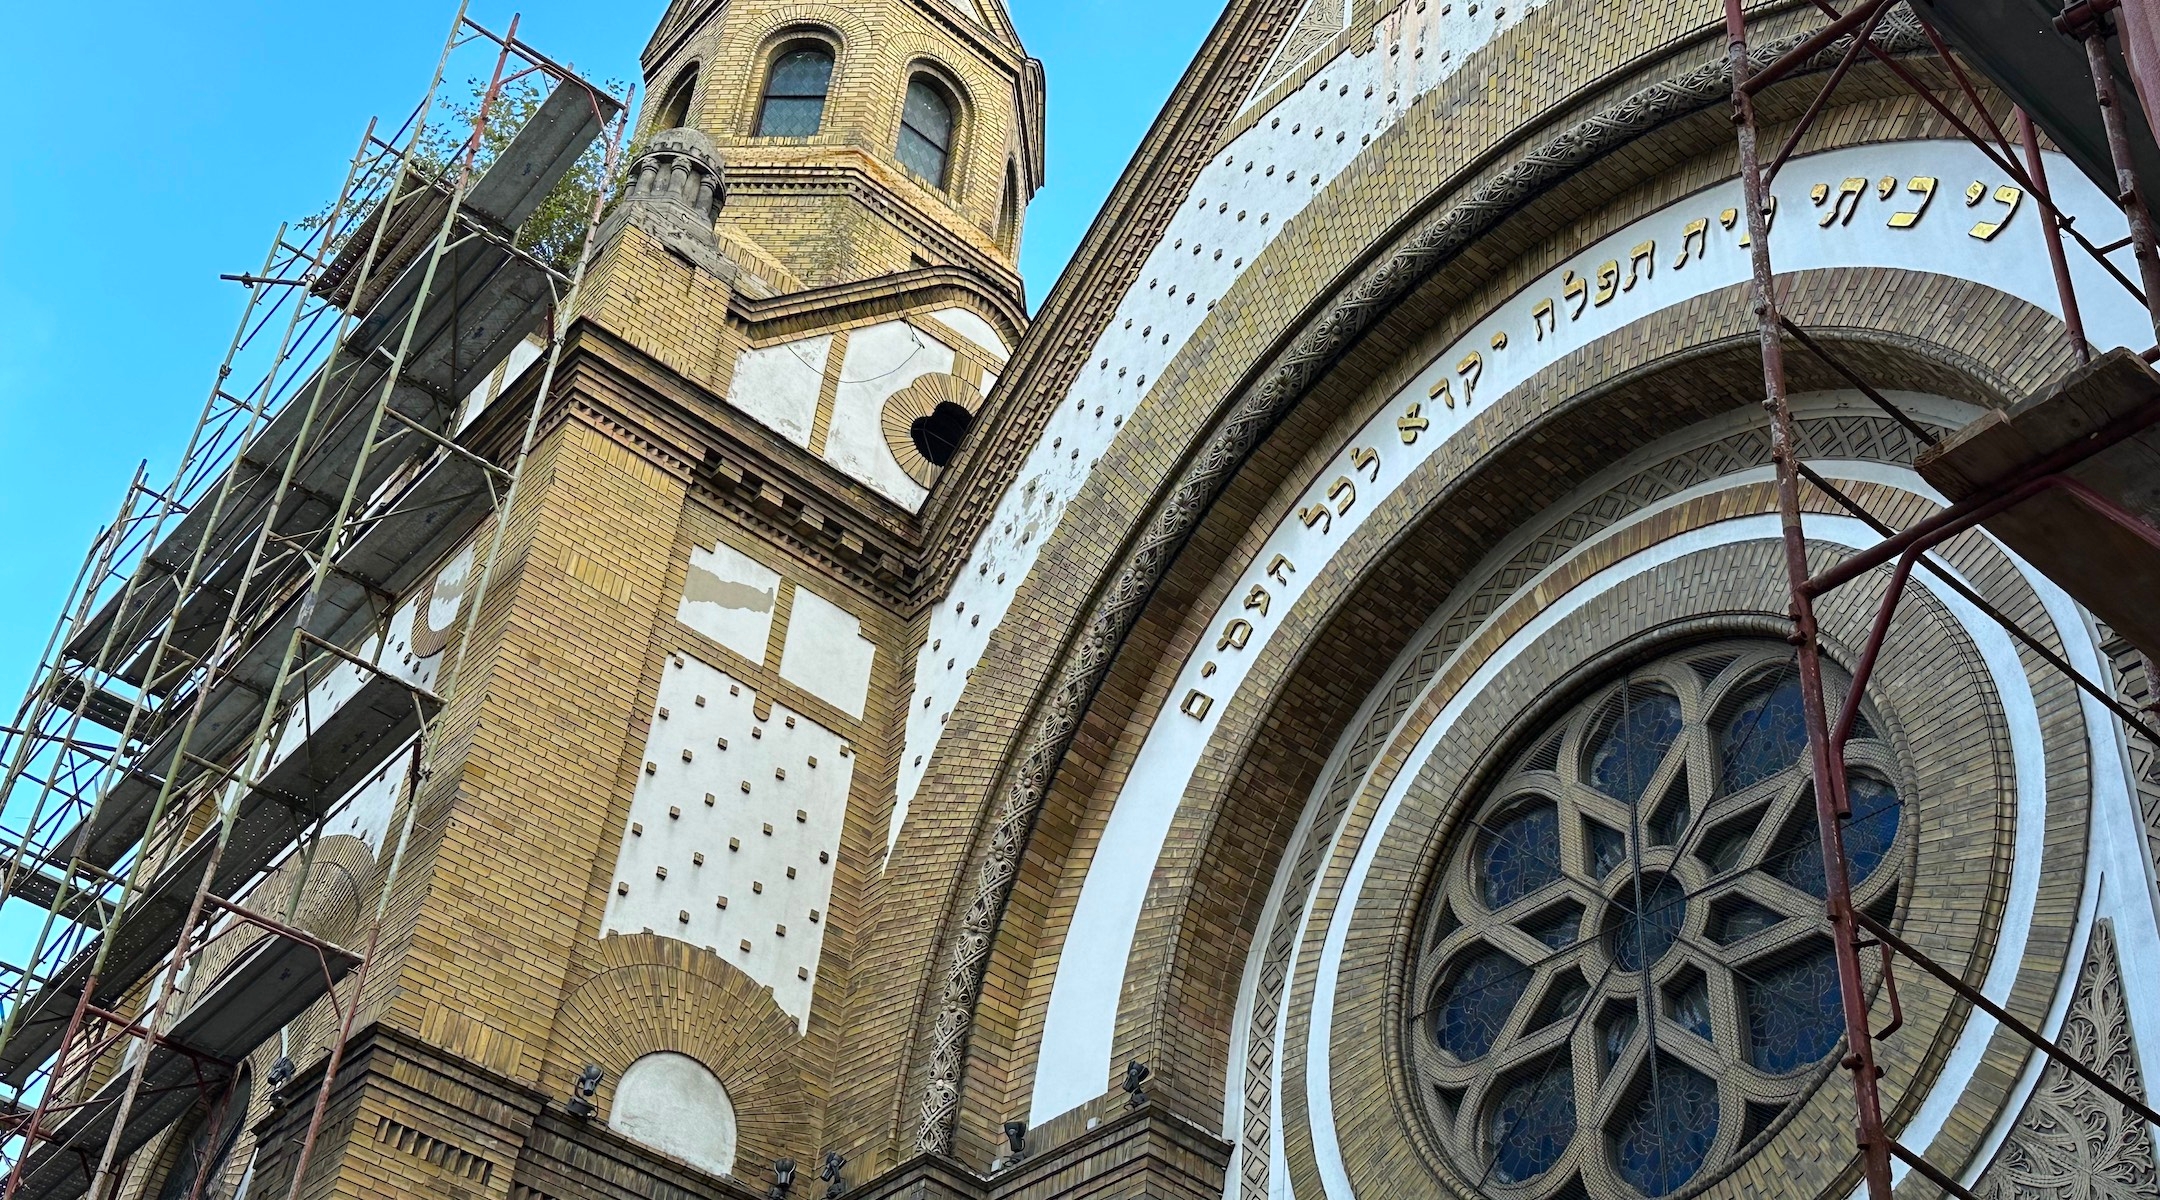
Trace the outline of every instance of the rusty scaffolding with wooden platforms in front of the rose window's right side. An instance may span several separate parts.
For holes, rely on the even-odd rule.
[[[2138,438],[2160,423],[2160,376],[2154,376],[2145,367],[2145,363],[2160,358],[2160,347],[2095,354],[2084,337],[2078,294],[2067,265],[2069,246],[2076,246],[2076,253],[2093,257],[2112,285],[2121,285],[2130,298],[2145,306],[2154,317],[2154,330],[2160,332],[2160,246],[2156,246],[2151,216],[2145,205],[2147,188],[2160,183],[2160,149],[2154,147],[2151,127],[2138,104],[2125,104],[2123,99],[2125,91],[2143,95],[2147,104],[2160,99],[2160,63],[2138,60],[2134,52],[2125,56],[2123,45],[2132,39],[2119,37],[2115,28],[2117,19],[2151,22],[2154,13],[2147,9],[2149,0],[2128,0],[2128,4],[2123,0],[2078,0],[2063,11],[2054,11],[2048,0],[1912,0],[1927,50],[1916,54],[1912,63],[1905,63],[1875,41],[1875,30],[1896,0],[1862,0],[1845,11],[1838,11],[1827,0],[1810,2],[1827,17],[1827,24],[1797,39],[1782,54],[1760,56],[1760,60],[1750,54],[1750,15],[1743,11],[1741,0],[1726,0],[1726,32],[1728,65],[1732,71],[1732,119],[1739,138],[1739,175],[1747,214],[1747,240],[1743,244],[1750,246],[1752,255],[1750,287],[1763,354],[1763,406],[1769,417],[1784,568],[1791,585],[1791,639],[1799,667],[1812,794],[1827,874],[1827,917],[1834,935],[1845,1012],[1847,1055],[1842,1066],[1853,1088],[1860,1181],[1866,1187],[1868,1200],[1892,1198],[1892,1161],[1903,1163],[1942,1194],[1972,1200],[1974,1194],[1968,1183],[1927,1161],[1920,1150],[1899,1142],[1886,1124],[1879,1092],[1881,1068],[1875,1062],[1875,1045],[1896,1036],[1903,1023],[1899,1019],[1896,991],[1901,963],[1918,969],[1935,984],[1955,993],[1963,1004],[1994,1019],[2000,1027],[2046,1055],[2048,1062],[2097,1088],[2136,1120],[2160,1127],[2160,1114],[2043,1036],[2041,1029],[2007,1012],[1957,971],[1946,969],[1901,939],[1886,922],[1853,904],[1851,859],[1845,853],[1842,833],[1845,822],[1851,818],[1845,742],[1853,732],[1862,693],[1881,654],[1890,619],[1907,591],[1907,583],[1914,570],[1927,570],[1946,587],[1974,602],[1981,613],[1998,622],[2026,650],[2033,650],[2037,658],[2065,673],[2074,686],[2108,708],[2130,732],[2160,745],[2151,712],[2125,704],[2110,682],[2091,680],[2080,673],[2069,660],[2048,647],[2043,639],[2020,628],[2011,617],[1961,583],[1953,570],[1931,557],[1931,550],[1942,542],[1974,527],[1987,527],[2002,544],[2035,561],[2065,591],[2110,624],[2117,619],[2125,624],[2145,619],[2141,611],[2125,611],[2121,578],[2110,589],[2093,578],[2080,578],[2078,563],[2061,555],[2054,555],[2056,561],[2050,563],[2050,546],[2035,542],[2035,529],[2028,518],[2035,507],[2052,505],[2048,509],[2052,524],[2048,524],[2056,535],[2082,531],[2100,542],[2121,546],[2125,559],[2104,563],[2106,570],[2145,570],[2160,563],[2160,529],[2141,518],[2132,505],[2125,505],[2121,494],[2110,494],[2108,488],[2093,483],[2093,468],[2097,464],[2106,464],[2108,455],[2136,453]],[[2119,13],[2119,9],[2130,11]],[[1938,438],[1933,434],[1914,423],[1909,414],[1901,412],[1860,371],[1845,363],[1834,345],[1825,345],[1825,339],[1812,337],[1804,326],[1778,311],[1780,294],[1771,265],[1773,199],[1769,188],[1806,132],[1825,112],[1830,97],[1862,58],[1873,60],[1884,76],[1894,78],[1938,119],[1987,155],[2017,188],[2039,201],[2048,257],[2063,313],[2063,335],[2078,363],[2065,380],[2056,380],[2039,397],[2015,406],[2009,414],[1989,412],[1966,429],[1942,438],[1940,445],[1935,445]],[[1916,65],[1925,65],[1935,82],[1942,84],[1942,91],[1929,86]],[[2002,97],[2017,106],[2015,142],[1989,112],[1981,86],[1968,73],[1968,67],[1983,73]],[[1765,88],[1795,76],[1823,71],[1827,71],[1827,78],[1812,88],[1812,99],[1799,108],[1801,117],[1784,132],[1784,140],[1765,166],[1763,142],[1758,140],[1756,97]],[[1950,93],[1950,84],[1955,84],[1955,93]],[[2041,129],[2065,158],[2091,175],[2121,205],[2130,237],[2097,246],[2076,229],[2071,216],[2056,209],[2048,192],[2048,177],[2039,153]],[[2110,255],[2123,248],[2130,248],[2134,255],[2138,281],[2132,281],[2110,261]],[[1935,481],[1948,494],[1950,503],[1907,529],[1892,529],[1851,494],[1801,462],[1799,440],[1793,434],[1793,414],[1786,406],[1784,354],[1788,345],[1814,356],[1875,406],[1914,429],[1922,442],[1929,442],[1931,449],[1920,460],[1922,475]],[[2065,410],[2069,408],[2078,410],[2074,421],[2065,421]],[[2149,449],[2147,445],[2145,451]],[[1944,486],[1953,479],[1957,486]],[[1836,507],[1866,522],[1881,540],[1834,565],[1810,563],[1801,520],[1804,488],[1821,492]],[[1823,686],[1814,606],[1838,587],[1886,568],[1890,572],[1888,587],[1875,611],[1866,645],[1853,663],[1853,684],[1832,712],[1834,697]],[[2136,609],[2149,606],[2149,602],[2141,604],[2136,596],[2128,600]],[[2149,632],[2145,637],[2132,635],[2132,641],[2147,654],[2154,650]],[[1871,984],[1879,986],[1888,997],[1890,1019],[1881,1027],[1875,1027]],[[1985,1163],[1974,1163],[1972,1170],[1979,1165]]]

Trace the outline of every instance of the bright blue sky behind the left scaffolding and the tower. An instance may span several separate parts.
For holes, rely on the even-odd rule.
[[[1022,268],[1039,300],[1220,13],[1218,0],[1011,0],[1050,76],[1048,186]],[[637,80],[665,0],[475,19],[600,80]],[[95,529],[138,460],[175,466],[240,287],[279,220],[322,207],[372,114],[402,119],[454,6],[376,0],[19,4],[0,45],[0,704],[13,717]],[[1136,32],[1138,30],[1138,32]],[[95,54],[93,54],[95,50]]]

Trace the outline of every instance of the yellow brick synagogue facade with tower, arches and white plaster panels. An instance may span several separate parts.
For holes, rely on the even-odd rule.
[[[696,244],[637,214],[605,227],[486,604],[445,652],[460,665],[449,717],[419,792],[400,799],[413,844],[298,1196],[756,1200],[782,1161],[797,1172],[782,1200],[1635,1196],[1583,1165],[1601,1150],[1575,1150],[1566,1170],[1596,1181],[1581,1187],[1462,1172],[1449,1155],[1480,1127],[1441,1129],[1430,1112],[1447,1109],[1417,1094],[1430,1051],[1410,1038],[1430,997],[1406,997],[1404,980],[1419,930],[1441,924],[1421,915],[1436,863],[1473,820],[1456,796],[1477,794],[1555,697],[1590,686],[1583,671],[1687,639],[1780,637],[1767,542],[1711,544],[1776,505],[1747,427],[1760,380],[1747,296],[1702,287],[1475,404],[1464,384],[1445,451],[1385,492],[1356,488],[1380,481],[1380,455],[1408,453],[1443,395],[1454,410],[1436,384],[1432,408],[1400,408],[1443,350],[1525,287],[1588,265],[1601,240],[1730,183],[1719,9],[1501,6],[1460,45],[1432,22],[1475,6],[1335,9],[1231,0],[1030,326],[1009,203],[1041,183],[1043,86],[996,0],[670,6],[644,56],[639,142],[659,145],[663,125],[700,134],[726,201]],[[1786,41],[1819,24],[1784,2],[1760,15]],[[1918,45],[1916,26],[1884,37],[1899,54]],[[806,41],[836,63],[819,134],[760,138],[771,65]],[[1296,60],[1277,60],[1285,45]],[[1408,63],[1426,54],[1460,58],[1395,104],[1387,88],[1410,91]],[[916,71],[959,99],[942,188],[894,155]],[[1767,112],[1791,119],[1804,88],[1767,93]],[[1793,171],[1812,171],[1810,153],[1918,162],[1946,134],[1862,67]],[[1907,158],[1899,179],[1920,171]],[[1261,181],[1298,173],[1309,194],[1264,199],[1277,183]],[[1955,196],[1933,203],[1944,224],[1972,220]],[[1648,278],[1693,287],[1702,274],[1680,276],[1672,250],[1650,250],[1665,265]],[[1931,265],[1793,272],[1782,302],[1922,395],[1940,429],[2069,365],[2033,298],[1981,268]],[[1514,347],[1564,328],[1531,319]],[[1510,341],[1480,345],[1497,360]],[[903,369],[914,391],[864,399],[877,371]],[[1795,363],[1793,378],[1819,404],[1801,423],[1808,453],[1860,464],[1855,494],[1888,520],[1935,512],[1901,475],[1918,442],[1838,401],[1832,373]],[[534,386],[514,384],[469,440],[505,458]],[[940,397],[968,423],[931,462]],[[1400,427],[1361,434],[1395,412]],[[886,451],[892,464],[864,466]],[[1806,505],[1808,520],[1842,512]],[[1294,520],[1354,533],[1328,559],[1270,561]],[[1665,550],[1663,574],[1562,611],[1601,572]],[[1946,557],[2050,645],[2087,637],[1992,544],[1968,537]],[[1205,680],[1242,652],[1268,589],[1287,596],[1294,574],[1302,591],[1272,613],[1242,691],[1194,710],[1188,665],[1207,660]],[[1244,635],[1220,619],[1238,598]],[[1862,600],[1827,606],[1825,637],[1845,654],[1866,617]],[[2007,1006],[2043,1021],[2052,997],[2089,999],[2108,971],[2089,950],[2104,941],[2097,902],[2080,900],[2104,764],[2069,684],[2030,654],[1989,658],[1955,617],[1935,604],[1901,624],[1879,682],[1912,706],[1959,697],[1931,729],[1886,738],[1912,760],[1901,779],[1931,788],[1914,809],[1925,831],[1899,844],[1916,865],[1896,913],[1972,976],[2013,945]],[[1518,637],[1542,641],[1510,658]],[[2026,671],[2024,695],[1989,673],[2004,663]],[[860,693],[834,684],[858,665]],[[756,717],[717,742],[667,742],[667,723],[685,723],[670,712],[678,673],[715,680],[698,708],[743,688]],[[1456,732],[1443,714],[1473,684],[1490,691]],[[771,777],[758,760],[756,779],[728,775],[702,805],[698,788],[665,792],[693,751],[745,760],[743,738],[778,742],[797,721],[845,747],[849,771],[823,827],[810,801],[793,814],[804,837],[829,837],[814,865],[808,840],[784,861],[786,881],[829,870],[816,906],[737,932],[728,922],[760,904],[750,896],[784,891],[773,874],[728,876],[696,911],[639,906],[793,833],[775,809],[745,827],[747,846],[685,842],[689,870],[635,857],[639,837],[657,844],[704,809],[829,777],[838,758]],[[2009,799],[2017,738],[2046,766],[2037,818]],[[1186,740],[1182,775],[1149,775],[1151,747]],[[1408,816],[1389,827],[1406,790]],[[1153,805],[1160,831],[1119,863],[1134,805]],[[343,896],[374,894],[365,857],[341,853],[354,855],[343,874],[322,874],[302,906],[305,928],[333,939],[365,928]],[[1102,878],[1134,909],[1117,945],[1086,924]],[[773,950],[812,937],[810,960]],[[1337,986],[1324,976],[1344,963]],[[1074,976],[1099,976],[1086,993],[1099,1010],[1061,1010]],[[1959,1040],[1968,1012],[1907,988],[1916,1034],[1884,1051],[1901,1073],[1896,1118],[1920,1120],[1929,1088],[1953,1088],[1931,1146],[1981,1178],[2002,1161],[1989,1131],[2039,1120],[2017,1083],[2033,1060],[2007,1036]],[[1737,1027],[1734,995],[1719,993],[1719,1029]],[[292,1183],[305,1099],[337,1038],[328,1014],[320,1004],[251,1060],[257,1075],[279,1053],[298,1064],[276,1105],[255,1096],[253,1196]],[[1099,1038],[1074,1051],[1084,1038],[1058,1021]],[[1333,1058],[1313,1051],[1320,1034],[1337,1036]],[[1739,1062],[1730,1038],[1728,1051]],[[728,1170],[622,1120],[624,1079],[654,1055],[724,1088]],[[1830,1083],[1795,1086],[1788,1107],[1741,1109],[1752,1148],[1728,1127],[1730,1161],[1704,1196],[1851,1194],[1849,1101],[1827,1062],[1810,1071]],[[1130,1064],[1145,1083],[1125,1088]],[[590,1099],[575,1094],[585,1071]],[[1598,1088],[1585,1094],[1622,1090]],[[1743,1090],[1726,1086],[1730,1101]],[[177,1137],[153,1142],[127,1189],[153,1196],[175,1157]]]

